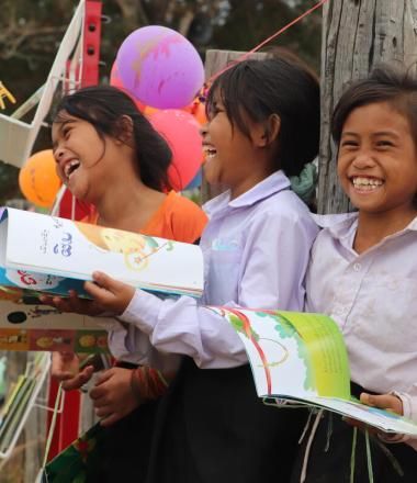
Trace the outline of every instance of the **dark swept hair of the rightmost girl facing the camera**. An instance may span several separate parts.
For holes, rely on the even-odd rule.
[[[349,114],[357,108],[387,102],[409,123],[417,145],[417,78],[408,69],[398,70],[387,65],[376,67],[367,79],[352,82],[337,103],[331,120],[331,136],[337,144]]]

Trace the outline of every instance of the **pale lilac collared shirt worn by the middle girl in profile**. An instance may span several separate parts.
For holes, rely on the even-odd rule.
[[[223,193],[204,206],[204,295],[160,300],[137,290],[114,327],[119,358],[158,367],[164,355],[187,355],[201,368],[247,363],[243,342],[223,317],[203,305],[302,311],[303,280],[317,226],[278,171],[230,200]],[[129,356],[127,353],[129,352]]]

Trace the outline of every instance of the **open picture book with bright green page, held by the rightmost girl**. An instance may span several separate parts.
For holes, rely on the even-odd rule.
[[[288,400],[339,413],[386,433],[417,436],[417,424],[361,404],[350,394],[343,337],[328,316],[211,307],[245,345],[259,397]]]

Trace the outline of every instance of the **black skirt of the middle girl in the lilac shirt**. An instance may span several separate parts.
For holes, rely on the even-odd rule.
[[[262,404],[249,366],[184,358],[159,403],[146,483],[288,483],[306,416]]]

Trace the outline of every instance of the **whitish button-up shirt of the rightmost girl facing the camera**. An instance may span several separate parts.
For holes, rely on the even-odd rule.
[[[306,311],[339,325],[352,381],[380,394],[397,391],[404,415],[417,422],[417,218],[360,255],[352,248],[357,214],[322,221]]]

